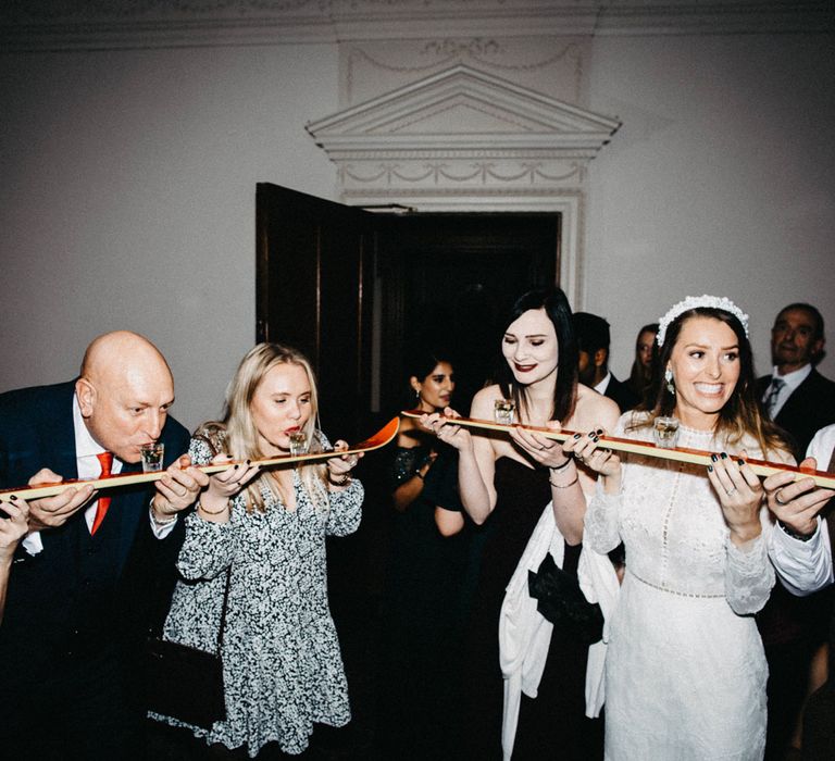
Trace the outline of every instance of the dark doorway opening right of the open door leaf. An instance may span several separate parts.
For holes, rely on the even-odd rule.
[[[444,347],[456,360],[453,406],[490,377],[513,300],[557,282],[558,214],[410,214],[381,221],[382,409],[404,395],[408,355]]]

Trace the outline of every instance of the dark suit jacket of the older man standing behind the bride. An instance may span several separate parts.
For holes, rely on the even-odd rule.
[[[771,383],[771,375],[757,380],[757,398],[762,399]],[[768,410],[763,410],[768,415]],[[835,423],[835,383],[812,369],[786,399],[774,423],[789,435],[789,444],[797,461],[806,457],[806,450],[814,434]]]

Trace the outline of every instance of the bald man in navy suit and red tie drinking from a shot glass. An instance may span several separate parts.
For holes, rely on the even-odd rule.
[[[140,471],[140,447],[165,445],[153,485],[89,486],[16,504],[29,532],[12,563],[0,627],[2,748],[10,758],[133,758],[140,706],[134,659],[164,607],[183,540],[177,514],[208,483],[188,433],[169,416],[174,382],[146,338],[90,344],[78,378],[0,395],[0,487]],[[22,496],[25,496],[22,495]],[[99,497],[110,498],[105,506]]]

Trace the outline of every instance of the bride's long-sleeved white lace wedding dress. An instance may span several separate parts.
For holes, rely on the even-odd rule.
[[[624,431],[630,419],[614,435],[650,440],[648,427]],[[677,446],[726,450],[712,434],[687,428]],[[606,663],[606,758],[761,759],[768,668],[753,613],[774,584],[769,528],[737,548],[703,466],[635,454],[622,461],[621,494],[598,487],[584,539],[598,552],[621,538],[626,547]]]

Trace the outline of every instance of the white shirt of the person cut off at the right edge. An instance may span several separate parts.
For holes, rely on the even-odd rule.
[[[833,448],[835,425],[827,425],[814,435],[806,456],[815,459],[819,471],[826,470]],[[790,537],[780,525],[776,525],[771,534],[769,554],[774,570],[785,587],[799,597],[811,595],[835,581],[830,533],[823,520],[820,516],[817,520],[818,528],[808,541]]]

